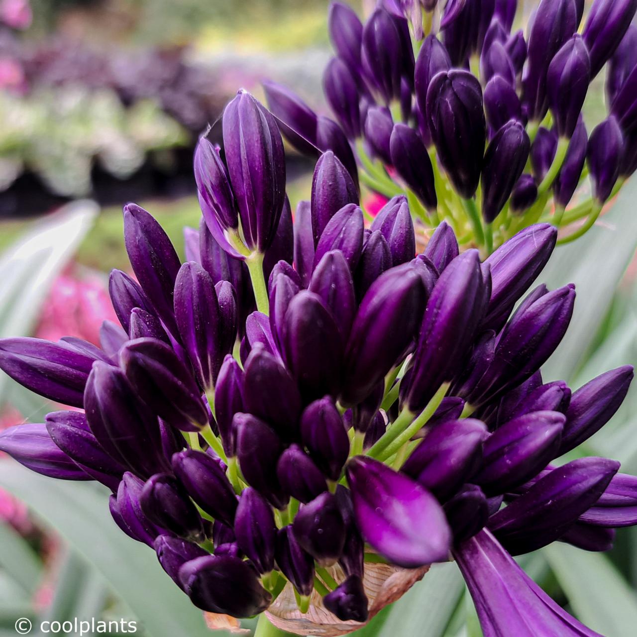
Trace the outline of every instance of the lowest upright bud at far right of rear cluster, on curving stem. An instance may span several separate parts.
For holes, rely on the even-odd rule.
[[[624,154],[624,136],[617,118],[613,115],[598,124],[590,133],[587,159],[593,196],[605,203],[619,177],[619,168]]]

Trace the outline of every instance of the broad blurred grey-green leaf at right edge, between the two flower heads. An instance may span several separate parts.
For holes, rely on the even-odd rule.
[[[571,379],[606,317],[617,284],[637,247],[637,233],[628,230],[634,225],[636,197],[637,182],[632,180],[598,225],[571,245],[555,250],[541,275],[541,281],[550,288],[575,283],[577,290],[568,332],[542,368],[547,380]]]

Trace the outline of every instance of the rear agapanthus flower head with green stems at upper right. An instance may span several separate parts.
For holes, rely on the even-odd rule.
[[[298,150],[333,150],[461,247],[488,255],[537,222],[573,241],[637,169],[637,3],[584,16],[583,0],[541,0],[526,33],[512,32],[517,4],[378,0],[362,24],[335,2],[324,92],[338,124],[275,83],[269,107]],[[605,66],[608,117],[589,136],[582,106]]]

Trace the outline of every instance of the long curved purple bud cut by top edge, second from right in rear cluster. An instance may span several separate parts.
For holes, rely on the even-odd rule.
[[[522,101],[529,120],[540,122],[547,114],[548,65],[576,30],[573,0],[541,0],[531,25],[527,64],[522,76]]]

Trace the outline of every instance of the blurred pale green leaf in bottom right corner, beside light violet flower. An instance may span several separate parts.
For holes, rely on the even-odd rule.
[[[568,544],[543,550],[577,617],[606,637],[637,630],[637,596],[608,558]]]

